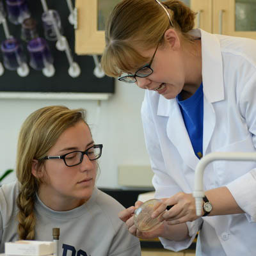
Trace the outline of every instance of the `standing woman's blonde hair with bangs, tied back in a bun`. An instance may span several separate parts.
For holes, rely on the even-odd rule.
[[[184,40],[193,41],[189,31],[194,27],[195,12],[179,0],[161,3],[155,0],[124,0],[118,3],[106,24],[101,65],[108,76],[118,77],[141,67],[148,58],[134,49],[163,44],[164,32],[172,26]],[[171,22],[163,6],[170,13]]]

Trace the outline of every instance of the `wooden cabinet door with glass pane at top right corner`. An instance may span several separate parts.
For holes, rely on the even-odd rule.
[[[213,0],[213,33],[256,39],[256,0]]]

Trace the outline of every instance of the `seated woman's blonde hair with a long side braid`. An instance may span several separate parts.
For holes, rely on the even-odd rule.
[[[77,122],[86,122],[84,109],[68,109],[65,106],[47,106],[31,113],[22,124],[17,146],[17,179],[20,183],[17,205],[20,239],[35,238],[35,196],[40,180],[31,173],[33,159],[46,156],[60,135]],[[39,165],[44,161],[40,161]]]

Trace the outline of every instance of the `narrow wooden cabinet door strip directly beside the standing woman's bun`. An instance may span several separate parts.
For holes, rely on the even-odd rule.
[[[223,0],[227,1],[227,0]],[[212,32],[212,0],[190,0],[190,7],[196,14],[195,28]]]

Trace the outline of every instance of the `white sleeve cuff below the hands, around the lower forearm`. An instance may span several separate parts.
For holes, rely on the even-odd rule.
[[[178,252],[180,250],[185,250],[189,248],[189,246],[193,243],[193,240],[195,239],[195,236],[200,229],[202,225],[202,218],[198,218],[195,221],[188,221],[186,222],[186,225],[188,227],[188,232],[189,232],[189,238],[182,240],[182,241],[173,241],[173,240],[168,240],[163,237],[159,237],[159,240],[163,244],[164,248],[167,250],[173,250],[174,252]]]

